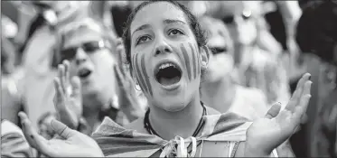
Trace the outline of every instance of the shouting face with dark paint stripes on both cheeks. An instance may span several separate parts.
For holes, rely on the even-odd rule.
[[[136,80],[152,105],[179,111],[199,93],[201,57],[182,10],[168,2],[140,9],[131,23]]]

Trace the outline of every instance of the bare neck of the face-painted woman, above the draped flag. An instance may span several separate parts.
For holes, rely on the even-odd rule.
[[[150,123],[154,131],[165,140],[171,140],[179,135],[183,138],[192,136],[197,128],[203,108],[198,95],[183,110],[168,112],[155,106],[151,106],[149,115]]]

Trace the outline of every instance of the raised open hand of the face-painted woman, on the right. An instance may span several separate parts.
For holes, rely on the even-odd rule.
[[[269,109],[265,117],[257,119],[248,128],[247,144],[257,146],[259,152],[270,154],[295,133],[311,98],[312,82],[309,78],[310,74],[306,73],[300,79],[293,97],[284,110],[280,111],[281,105],[277,103]]]

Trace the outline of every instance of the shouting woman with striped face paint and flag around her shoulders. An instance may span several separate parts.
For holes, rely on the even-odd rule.
[[[24,134],[33,147],[51,157],[273,154],[300,121],[310,98],[310,74],[304,75],[286,110],[280,112],[276,104],[253,124],[232,113],[220,115],[201,103],[201,76],[209,61],[204,38],[197,19],[183,5],[173,1],[138,5],[129,17],[125,44],[134,80],[148,100],[145,116],[126,128],[105,119],[93,134],[95,143],[58,121],[51,126],[63,140],[47,141],[21,113]]]

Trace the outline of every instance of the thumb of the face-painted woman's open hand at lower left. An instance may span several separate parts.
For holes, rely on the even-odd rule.
[[[77,134],[76,131],[70,129],[70,127],[55,119],[51,120],[51,127],[56,134],[60,135],[64,139],[69,139],[71,136]]]

